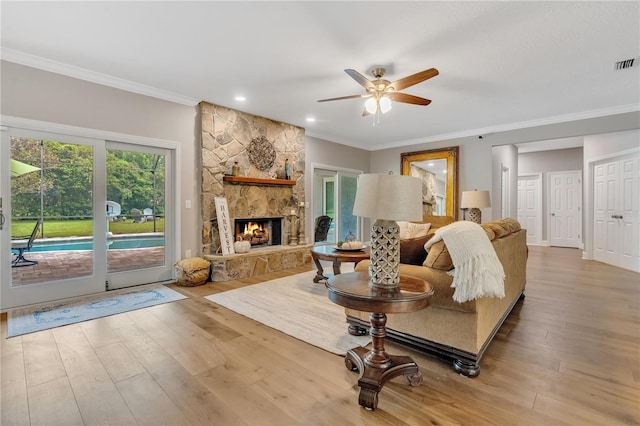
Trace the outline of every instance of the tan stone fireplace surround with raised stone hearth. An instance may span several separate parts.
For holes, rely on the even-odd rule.
[[[212,281],[227,281],[289,269],[311,262],[310,244],[289,246],[292,209],[304,201],[304,129],[269,120],[230,108],[201,102],[201,218],[202,254],[212,263]],[[264,136],[276,151],[270,170],[251,164],[247,147],[253,138]],[[296,184],[233,184],[224,182],[237,162],[240,175],[273,179],[283,174],[289,160]],[[275,182],[275,181],[274,181]],[[225,197],[229,216],[235,218],[285,217],[283,244],[252,248],[249,253],[222,256],[214,204],[215,197]],[[299,226],[299,225],[298,225]],[[298,228],[299,229],[299,228]]]

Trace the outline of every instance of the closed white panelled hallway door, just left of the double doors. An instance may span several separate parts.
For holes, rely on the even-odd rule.
[[[582,246],[582,172],[550,172],[549,244],[554,247]]]

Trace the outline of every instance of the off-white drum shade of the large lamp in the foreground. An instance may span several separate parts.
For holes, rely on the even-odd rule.
[[[412,176],[362,174],[353,214],[382,220],[422,220],[422,181]]]

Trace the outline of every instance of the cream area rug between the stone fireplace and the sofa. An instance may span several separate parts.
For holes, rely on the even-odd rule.
[[[344,308],[331,302],[315,271],[206,296],[206,299],[326,351],[345,355],[369,336],[347,332]]]

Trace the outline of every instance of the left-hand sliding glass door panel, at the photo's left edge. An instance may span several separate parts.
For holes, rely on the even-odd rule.
[[[90,138],[2,132],[3,308],[104,290],[104,154]]]

